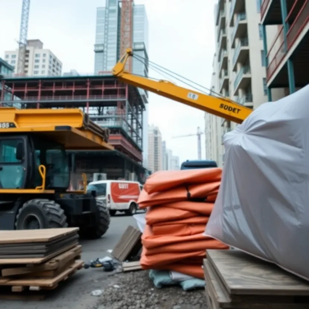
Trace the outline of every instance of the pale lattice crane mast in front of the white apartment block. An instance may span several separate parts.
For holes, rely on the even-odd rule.
[[[30,9],[30,0],[23,0],[21,19],[20,19],[19,41],[18,41],[19,49],[18,49],[17,74],[24,74],[25,72],[29,9]]]

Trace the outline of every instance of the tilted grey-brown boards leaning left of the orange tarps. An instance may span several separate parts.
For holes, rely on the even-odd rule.
[[[142,248],[142,233],[129,225],[112,251],[112,255],[121,262],[138,254]]]

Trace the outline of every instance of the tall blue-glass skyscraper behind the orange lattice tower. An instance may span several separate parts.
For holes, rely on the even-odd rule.
[[[148,77],[148,19],[144,5],[133,5],[132,47],[135,55],[145,59],[132,60],[132,72]],[[121,5],[119,0],[106,0],[97,8],[94,73],[111,71],[121,57]],[[143,112],[143,165],[147,167],[148,153],[148,92],[139,89],[146,110]]]

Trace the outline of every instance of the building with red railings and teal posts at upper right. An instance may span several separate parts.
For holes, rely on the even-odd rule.
[[[309,83],[309,1],[264,0],[260,9],[266,53],[266,86],[269,101],[274,91],[284,95]],[[268,29],[278,30],[269,42]]]

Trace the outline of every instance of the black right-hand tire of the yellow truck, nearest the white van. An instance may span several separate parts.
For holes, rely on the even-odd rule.
[[[95,226],[87,229],[80,229],[80,236],[87,239],[98,239],[103,236],[109,227],[111,217],[106,207],[106,203],[100,200],[96,200],[97,213],[95,217]]]

